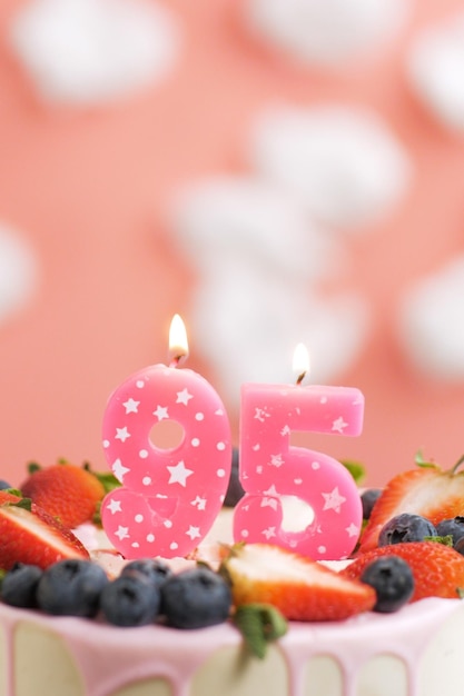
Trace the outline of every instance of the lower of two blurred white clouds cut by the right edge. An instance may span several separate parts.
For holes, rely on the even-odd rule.
[[[398,335],[418,371],[444,381],[464,381],[464,256],[406,291]]]

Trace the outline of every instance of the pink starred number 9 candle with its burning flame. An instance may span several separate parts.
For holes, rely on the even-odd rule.
[[[204,377],[179,368],[188,347],[178,315],[169,346],[169,366],[131,375],[112,392],[103,416],[105,454],[121,487],[105,497],[101,519],[125,558],[191,553],[219,514],[230,476],[227,414]],[[180,426],[175,447],[152,441],[164,420]]]

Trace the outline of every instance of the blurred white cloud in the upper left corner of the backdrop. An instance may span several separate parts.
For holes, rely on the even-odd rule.
[[[50,102],[101,103],[157,83],[179,48],[155,0],[32,0],[13,17],[16,54]]]

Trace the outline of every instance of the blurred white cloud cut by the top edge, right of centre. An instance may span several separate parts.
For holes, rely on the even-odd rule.
[[[248,0],[249,31],[303,64],[344,67],[392,40],[408,0]]]

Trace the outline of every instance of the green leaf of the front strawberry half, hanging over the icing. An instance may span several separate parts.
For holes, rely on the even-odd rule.
[[[267,644],[282,638],[288,625],[278,609],[268,604],[244,604],[237,608],[233,623],[241,633],[251,655],[263,659]]]

